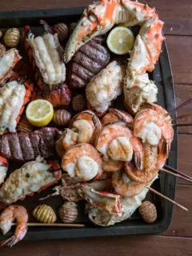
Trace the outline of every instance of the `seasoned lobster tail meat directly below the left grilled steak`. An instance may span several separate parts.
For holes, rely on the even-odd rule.
[[[50,170],[51,166],[54,167],[38,157],[35,161],[26,162],[21,168],[14,170],[0,188],[1,202],[6,204],[16,202],[26,195],[39,192],[42,188],[58,182],[61,174],[58,175],[58,170]],[[57,167],[59,167],[58,163]]]

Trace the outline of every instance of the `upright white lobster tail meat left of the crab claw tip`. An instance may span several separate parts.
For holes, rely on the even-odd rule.
[[[58,42],[58,34],[46,33],[34,38],[30,27],[25,26],[23,37],[38,86],[51,87],[64,82],[66,66],[62,61],[63,49]]]

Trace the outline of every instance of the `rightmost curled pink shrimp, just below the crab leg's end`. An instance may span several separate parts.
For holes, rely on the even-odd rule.
[[[166,141],[167,150],[170,151],[174,130],[170,116],[166,116],[166,110],[152,103],[142,104],[141,109],[134,118],[134,136],[152,146],[158,146],[162,138]]]

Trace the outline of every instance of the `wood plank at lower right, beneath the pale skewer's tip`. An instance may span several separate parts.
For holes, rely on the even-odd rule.
[[[174,206],[173,218],[170,227],[164,235],[171,236],[192,236],[192,201],[190,198],[192,186],[178,185],[176,186],[175,201],[186,206],[189,211],[186,212]]]

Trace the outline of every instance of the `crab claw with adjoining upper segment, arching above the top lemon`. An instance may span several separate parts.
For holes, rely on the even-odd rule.
[[[130,0],[102,0],[88,6],[66,45],[65,62],[91,38],[105,34],[115,24],[142,25],[150,18],[158,18],[153,8]]]

